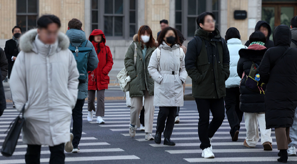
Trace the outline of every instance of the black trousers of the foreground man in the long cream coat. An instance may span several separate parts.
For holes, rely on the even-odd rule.
[[[27,153],[25,155],[26,164],[39,164],[40,163],[40,150],[41,145],[28,145]],[[50,146],[50,164],[64,164],[64,144]]]

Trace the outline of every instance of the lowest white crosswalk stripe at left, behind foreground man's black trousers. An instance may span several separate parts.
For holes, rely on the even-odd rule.
[[[66,162],[72,161],[96,161],[96,160],[124,160],[124,159],[140,159],[135,155],[117,155],[117,156],[88,156],[88,157],[68,157],[65,158]],[[49,162],[50,158],[40,158],[40,162]],[[11,159],[0,160],[0,164],[16,164],[25,163],[25,159]]]

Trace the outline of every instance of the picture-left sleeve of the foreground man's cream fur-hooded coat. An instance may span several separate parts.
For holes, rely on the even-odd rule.
[[[9,86],[15,108],[20,111],[28,100],[26,86],[25,54],[21,51],[17,55],[15,64],[12,67]]]

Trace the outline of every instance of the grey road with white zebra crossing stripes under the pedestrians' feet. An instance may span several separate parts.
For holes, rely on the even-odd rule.
[[[0,148],[5,139],[5,131],[18,112],[8,103],[8,108],[0,117]],[[156,132],[156,120],[159,108],[155,109],[153,135]],[[83,107],[83,134],[79,144],[79,153],[66,153],[66,163],[278,163],[275,134],[272,131],[272,151],[264,151],[259,142],[256,148],[245,148],[245,124],[242,122],[239,139],[232,142],[229,124],[225,118],[223,125],[213,137],[211,145],[216,158],[201,158],[200,141],[197,132],[199,114],[194,101],[185,101],[180,109],[180,123],[175,124],[172,140],[176,146],[169,147],[155,144],[144,139],[144,131],[136,131],[136,136],[129,136],[130,108],[125,101],[105,101],[105,124],[87,121],[87,102]],[[211,114],[210,114],[211,115]],[[210,116],[210,120],[212,116]],[[163,139],[163,138],[162,138]],[[26,145],[22,136],[12,157],[0,155],[0,164],[25,163]],[[50,151],[41,148],[41,163],[48,163]],[[297,163],[296,156],[290,156],[288,163]]]

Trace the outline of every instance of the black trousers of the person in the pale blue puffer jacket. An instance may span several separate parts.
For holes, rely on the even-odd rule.
[[[225,108],[227,119],[231,127],[231,137],[240,129],[243,112],[239,109],[240,104],[240,91],[239,87],[226,88]]]

